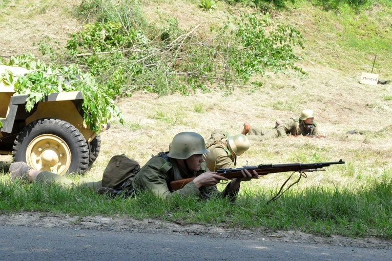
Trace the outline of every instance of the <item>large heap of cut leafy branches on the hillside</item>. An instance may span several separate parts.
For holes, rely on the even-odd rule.
[[[136,2],[130,7],[126,0],[116,5],[91,0],[81,7],[89,14],[86,19],[95,19],[71,35],[64,59],[93,75],[112,98],[135,91],[190,95],[217,87],[229,94],[267,70],[305,74],[295,66],[300,57],[294,47],[303,48],[301,34],[274,25],[267,14],[233,15],[207,37],[197,33],[198,26],[180,29],[177,19],[166,14],[159,15],[160,27],[148,24]]]

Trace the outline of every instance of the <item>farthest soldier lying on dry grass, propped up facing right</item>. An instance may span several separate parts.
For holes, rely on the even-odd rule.
[[[287,121],[276,121],[275,128],[271,130],[252,128],[249,123],[244,123],[243,126],[242,134],[251,140],[267,140],[287,137],[288,135],[324,137],[319,136],[317,124],[314,122],[313,111],[309,109],[303,110],[299,118],[292,117],[287,119]]]

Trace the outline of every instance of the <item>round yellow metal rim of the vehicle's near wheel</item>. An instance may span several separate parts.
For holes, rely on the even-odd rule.
[[[71,150],[63,139],[52,134],[35,137],[27,146],[26,162],[39,171],[64,175],[71,165]]]

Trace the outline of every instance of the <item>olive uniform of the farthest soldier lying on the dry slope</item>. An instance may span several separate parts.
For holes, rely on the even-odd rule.
[[[253,130],[256,129],[256,130]],[[317,136],[319,134],[317,124],[313,122],[312,125],[308,126],[303,123],[299,118],[290,118],[287,121],[280,124],[277,128],[272,129],[264,134],[258,134],[261,131],[258,128],[251,128],[247,134],[247,138],[252,140],[267,140],[278,137],[287,137],[287,135],[311,135]]]

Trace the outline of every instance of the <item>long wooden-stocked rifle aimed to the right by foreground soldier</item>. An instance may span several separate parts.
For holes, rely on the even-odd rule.
[[[226,177],[228,179],[243,177],[241,170],[246,169],[249,172],[255,170],[257,174],[260,175],[267,175],[270,173],[280,173],[280,172],[314,172],[318,169],[324,171],[322,168],[329,167],[335,164],[344,164],[344,161],[340,159],[338,162],[320,162],[320,163],[291,163],[291,164],[260,164],[258,166],[244,166],[242,168],[237,169],[218,169],[217,175]],[[185,185],[192,182],[195,177],[183,178],[178,180],[173,180],[170,182],[170,187],[172,190],[179,190],[182,189]]]

